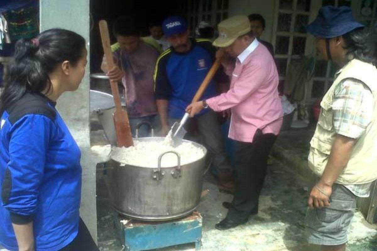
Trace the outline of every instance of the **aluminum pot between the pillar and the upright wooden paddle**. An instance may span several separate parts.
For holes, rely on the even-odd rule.
[[[124,100],[122,106],[125,108]],[[115,104],[113,96],[101,91],[90,90],[90,111],[97,113],[98,119],[105,131],[107,140],[111,145],[116,145],[116,134],[113,113]]]

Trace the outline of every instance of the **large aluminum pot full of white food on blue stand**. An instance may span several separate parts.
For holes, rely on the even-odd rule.
[[[163,137],[137,138],[134,141],[163,141]],[[184,140],[188,142],[187,140]],[[121,166],[110,160],[107,186],[113,208],[118,213],[143,221],[167,221],[191,213],[199,204],[205,169],[204,156],[192,163],[180,165],[179,154],[175,167],[161,167],[163,153],[156,168]],[[146,153],[145,158],[148,158]]]

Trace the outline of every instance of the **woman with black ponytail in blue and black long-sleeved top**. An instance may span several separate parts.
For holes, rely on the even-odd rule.
[[[0,249],[98,250],[80,219],[80,148],[55,109],[85,73],[83,37],[20,40],[0,96]]]

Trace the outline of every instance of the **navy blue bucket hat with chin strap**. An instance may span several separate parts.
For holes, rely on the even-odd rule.
[[[354,20],[349,7],[323,6],[307,31],[314,37],[334,38],[360,27],[364,25]]]

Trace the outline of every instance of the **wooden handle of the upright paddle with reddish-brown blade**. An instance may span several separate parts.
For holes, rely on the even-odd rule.
[[[102,47],[103,47],[103,52],[105,54],[107,69],[111,70],[114,67],[114,60],[113,60],[113,55],[111,53],[109,29],[107,27],[107,22],[105,20],[100,21],[100,33],[101,33]],[[113,97],[114,97],[115,109],[121,110],[122,103],[120,100],[118,83],[114,81],[110,81],[110,86],[111,86],[111,92],[113,93]]]

